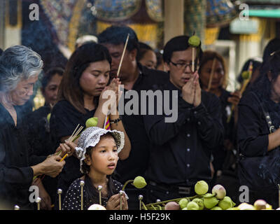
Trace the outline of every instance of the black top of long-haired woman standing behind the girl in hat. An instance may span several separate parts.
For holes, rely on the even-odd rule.
[[[52,138],[55,139],[57,147],[59,146],[60,139],[62,137],[71,136],[78,124],[82,125],[85,129],[85,122],[87,119],[94,116],[95,109],[92,111],[85,110],[85,114],[80,113],[66,100],[55,104],[50,116],[50,132]],[[66,164],[58,176],[57,183],[57,188],[62,189],[62,200],[71,183],[80,176],[83,176],[83,174],[80,173],[80,160],[78,160],[78,158],[71,156],[66,158],[65,162]],[[57,202],[56,200],[56,206]]]

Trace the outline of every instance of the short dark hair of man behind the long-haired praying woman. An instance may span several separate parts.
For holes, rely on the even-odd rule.
[[[98,35],[98,43],[111,43],[113,45],[120,45],[122,43],[125,44],[125,41],[127,40],[127,34],[130,34],[130,38],[127,43],[127,50],[139,50],[137,34],[132,28],[126,26],[113,25],[108,27]]]

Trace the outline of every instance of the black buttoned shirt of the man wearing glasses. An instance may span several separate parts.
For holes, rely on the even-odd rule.
[[[178,119],[166,123],[165,114],[144,116],[146,132],[153,143],[148,179],[177,186],[209,181],[211,151],[223,141],[218,97],[202,90],[202,104],[194,108],[193,104],[183,100],[181,90],[171,82],[162,90],[178,91]],[[170,97],[169,105],[172,100]]]

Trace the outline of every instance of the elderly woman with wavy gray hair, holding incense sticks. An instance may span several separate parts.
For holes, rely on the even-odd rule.
[[[29,188],[34,176],[57,176],[64,161],[57,155],[31,155],[27,144],[28,124],[22,117],[23,105],[33,94],[33,86],[41,73],[43,62],[33,50],[15,45],[0,56],[0,206],[1,209],[33,209],[36,195]],[[57,151],[71,153],[72,144],[61,144]],[[63,156],[62,154],[62,156]],[[30,197],[29,197],[30,195]],[[38,195],[37,195],[38,197]]]

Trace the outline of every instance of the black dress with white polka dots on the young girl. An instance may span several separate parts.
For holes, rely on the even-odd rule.
[[[81,179],[76,179],[71,183],[71,186],[67,190],[67,194],[62,204],[62,210],[80,210],[81,204]],[[116,195],[123,188],[123,185],[118,181],[115,181],[109,176],[108,182],[108,196],[102,197],[102,206],[106,207],[106,204],[112,195]],[[97,191],[90,181],[90,178],[85,175],[85,186],[83,188],[83,209],[87,210],[92,204],[99,204],[99,192]]]

